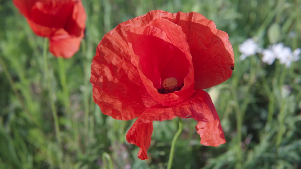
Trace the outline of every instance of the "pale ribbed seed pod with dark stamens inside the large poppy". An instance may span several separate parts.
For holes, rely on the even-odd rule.
[[[161,88],[158,89],[158,92],[161,94],[167,94],[174,91],[179,91],[181,88],[181,86],[178,86],[178,79],[170,77],[163,80]]]

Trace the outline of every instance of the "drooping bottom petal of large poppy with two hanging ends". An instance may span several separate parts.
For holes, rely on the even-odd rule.
[[[136,125],[152,124],[153,121],[171,120],[176,116],[180,118],[194,118],[198,121],[196,129],[197,133],[200,134],[201,144],[206,146],[219,146],[226,142],[216,109],[209,94],[203,90],[196,90],[190,100],[177,106],[164,107],[158,104],[147,108],[136,120],[135,125],[129,130],[126,138],[129,143],[135,144],[142,149],[140,149],[139,153],[141,151],[146,153],[149,146],[144,146],[140,142],[141,140],[145,141],[144,137],[148,138],[149,136],[143,135],[147,133],[145,131],[137,131],[140,133],[139,137],[132,137],[131,135],[135,132]],[[147,134],[151,133],[148,132]],[[131,139],[129,140],[128,138]]]

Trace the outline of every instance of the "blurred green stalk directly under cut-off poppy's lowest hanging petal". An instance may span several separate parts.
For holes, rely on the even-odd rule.
[[[58,58],[58,65],[60,68],[59,75],[60,75],[61,86],[62,86],[63,94],[64,94],[64,106],[66,108],[67,116],[70,118],[69,90],[68,90],[68,85],[67,85],[67,81],[66,81],[64,58],[62,58],[62,57]]]

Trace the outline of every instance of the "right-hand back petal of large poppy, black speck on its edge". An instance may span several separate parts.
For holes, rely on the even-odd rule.
[[[196,12],[171,14],[155,10],[147,15],[168,19],[182,27],[194,64],[195,88],[210,88],[231,77],[233,49],[228,34],[216,29],[213,21]]]

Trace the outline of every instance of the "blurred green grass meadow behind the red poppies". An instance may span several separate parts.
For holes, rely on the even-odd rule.
[[[86,34],[80,50],[68,60],[49,52],[44,60],[44,39],[31,31],[12,1],[0,2],[1,169],[112,168],[110,163],[124,169],[166,168],[177,120],[154,122],[149,159],[142,161],[137,158],[139,148],[125,140],[134,120],[102,114],[89,83],[92,58],[103,35],[154,9],[203,14],[229,34],[235,54],[232,77],[206,90],[227,143],[200,145],[196,121],[184,119],[172,168],[301,168],[301,61],[287,69],[278,60],[271,66],[262,63],[260,54],[240,60],[238,51],[250,37],[267,48],[275,24],[280,28],[272,32],[276,41],[301,47],[300,0],[83,0]],[[289,36],[292,31],[295,36]]]

